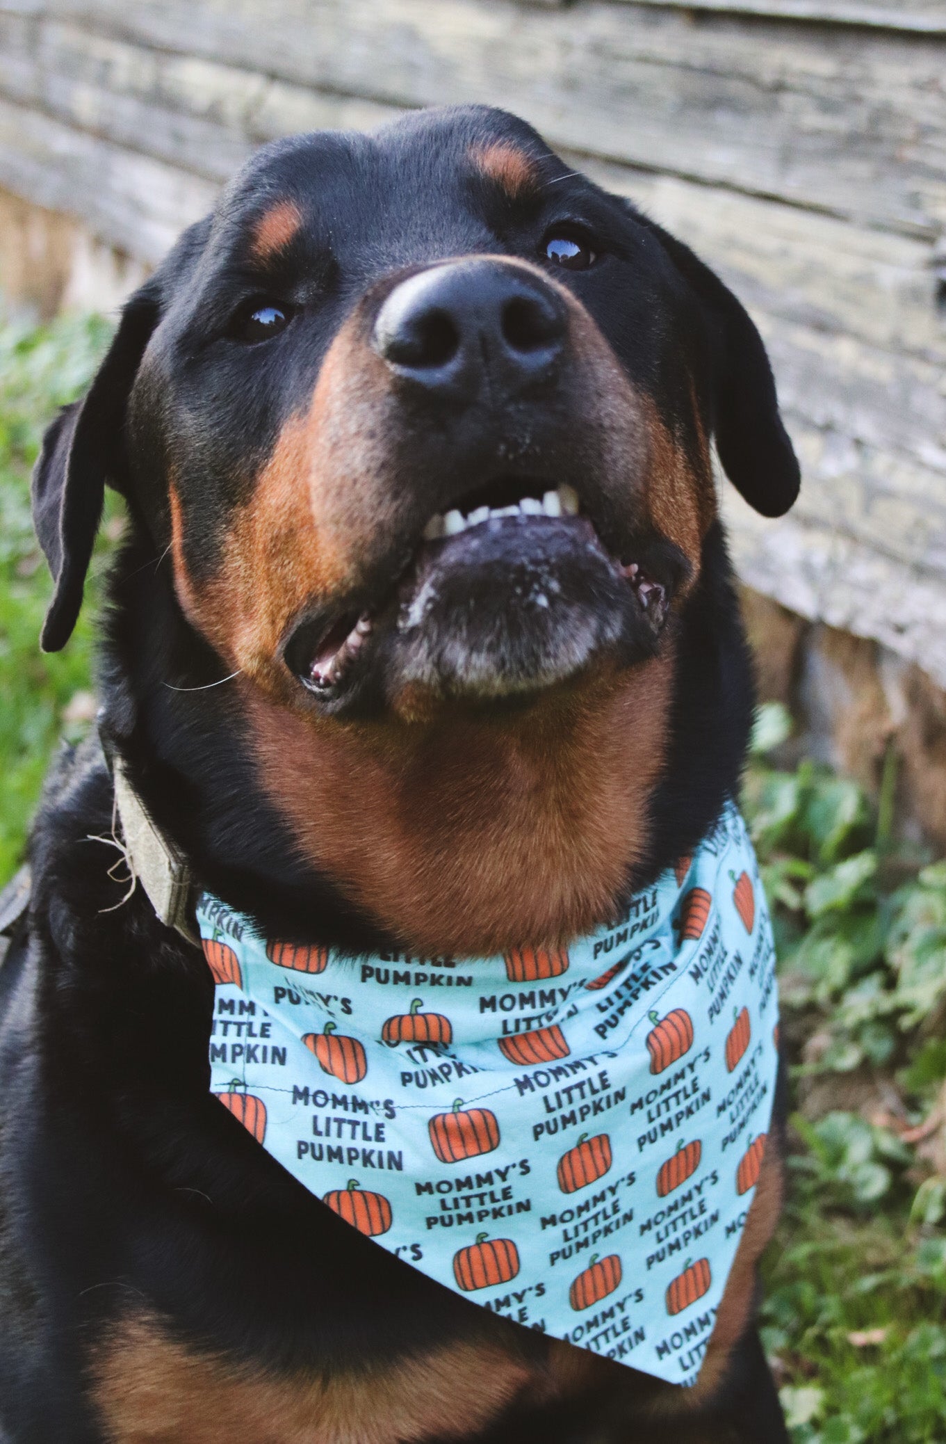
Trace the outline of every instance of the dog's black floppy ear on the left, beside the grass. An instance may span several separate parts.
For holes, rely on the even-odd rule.
[[[85,399],[63,407],[33,468],[33,526],[55,582],[40,637],[43,651],[59,651],[72,635],[105,482],[124,488],[125,404],[157,316],[157,299],[146,284],[125,305]]]

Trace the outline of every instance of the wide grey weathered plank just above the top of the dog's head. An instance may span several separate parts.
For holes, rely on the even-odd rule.
[[[48,0],[182,53],[391,105],[485,101],[557,146],[933,238],[943,45],[580,0]]]

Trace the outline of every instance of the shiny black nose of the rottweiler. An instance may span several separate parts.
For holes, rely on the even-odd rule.
[[[549,380],[565,347],[565,308],[539,276],[503,261],[450,261],[395,286],[378,312],[375,349],[433,396],[472,401]]]

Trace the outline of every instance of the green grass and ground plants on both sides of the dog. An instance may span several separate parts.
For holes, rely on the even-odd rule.
[[[95,318],[0,325],[0,882],[58,738],[94,715],[92,617],[120,510],[110,503],[75,637],[43,657],[52,588],[29,471],[108,334]],[[894,846],[893,754],[872,807],[810,762],[774,765],[789,728],[761,709],[743,797],[773,904],[792,1089],[763,1337],[795,1444],[933,1444],[946,1438],[946,862]]]

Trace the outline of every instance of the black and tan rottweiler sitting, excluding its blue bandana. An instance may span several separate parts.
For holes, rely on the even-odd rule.
[[[95,840],[117,761],[270,934],[485,954],[597,926],[738,781],[714,438],[790,507],[738,302],[492,110],[270,146],[128,302],[35,478],[46,648],[107,482],[130,523],[100,735],[49,781],[0,970],[4,1440],[786,1438],[753,1324],[776,1148],[694,1389],[525,1331],[219,1106],[203,956]]]

